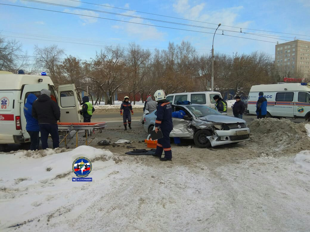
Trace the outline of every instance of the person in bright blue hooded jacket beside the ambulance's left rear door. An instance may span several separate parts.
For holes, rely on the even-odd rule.
[[[32,104],[37,100],[36,95],[30,93],[24,105],[24,115],[26,118],[26,131],[30,135],[30,150],[35,151],[39,149],[39,123],[38,120],[32,117]]]

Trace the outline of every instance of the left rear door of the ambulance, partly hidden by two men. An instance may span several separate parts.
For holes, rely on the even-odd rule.
[[[21,131],[24,138],[30,138],[30,135],[26,131],[26,118],[24,115],[24,105],[27,102],[27,97],[30,93],[33,93],[38,98],[41,95],[41,89],[49,89],[49,84],[40,83],[40,84],[26,84],[22,89],[20,97],[20,124]]]

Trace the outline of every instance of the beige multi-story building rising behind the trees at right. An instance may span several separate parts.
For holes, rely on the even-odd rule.
[[[294,40],[276,45],[275,65],[281,76],[310,78],[310,42]]]

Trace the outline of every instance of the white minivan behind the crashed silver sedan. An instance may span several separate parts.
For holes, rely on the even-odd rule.
[[[220,92],[181,92],[172,93],[166,96],[166,99],[172,104],[177,104],[177,101],[190,101],[192,104],[206,105],[215,108],[216,101],[213,99],[215,95],[222,97]]]

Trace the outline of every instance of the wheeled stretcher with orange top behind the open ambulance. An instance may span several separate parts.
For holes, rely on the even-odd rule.
[[[86,135],[86,140],[83,142],[81,145],[85,143],[86,146],[88,146],[94,139],[95,137],[102,132],[104,127],[106,127],[107,123],[106,122],[57,122],[58,124],[58,131],[64,131],[65,136],[64,138],[60,141],[59,144],[64,142],[65,147],[67,147],[67,144],[73,139],[74,135],[76,135],[76,147],[79,146],[78,144],[78,131],[80,130],[85,130],[85,135]],[[88,142],[88,131],[91,131],[94,136],[92,137],[91,141]],[[75,131],[75,133],[72,135],[69,141],[67,141],[67,137],[70,134],[71,131]],[[97,133],[95,134],[95,131]]]

